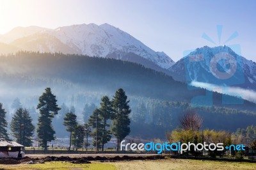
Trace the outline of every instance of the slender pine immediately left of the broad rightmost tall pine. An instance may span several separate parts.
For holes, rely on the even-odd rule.
[[[104,151],[104,144],[111,139],[111,130],[107,129],[110,125],[108,120],[113,117],[112,105],[107,96],[101,98],[100,103],[100,118],[102,120],[102,137],[100,137],[102,151]]]

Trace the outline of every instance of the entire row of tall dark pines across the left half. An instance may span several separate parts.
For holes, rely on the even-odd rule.
[[[10,130],[18,143],[24,146],[31,146],[35,126],[32,123],[29,111],[22,108],[19,101],[16,105],[19,109],[17,109],[12,118]],[[38,127],[36,128],[38,141],[40,146],[47,150],[47,142],[54,140],[54,134],[56,134],[52,126],[52,119],[61,110],[58,107],[56,96],[52,94],[51,88],[46,88],[45,92],[39,97],[36,109],[39,109],[40,114],[38,116]],[[99,149],[104,150],[104,144],[108,143],[114,135],[117,141],[116,149],[118,150],[120,141],[131,131],[130,113],[129,100],[127,100],[127,95],[125,95],[125,91],[122,88],[116,91],[111,100],[108,96],[102,97],[100,107],[93,111],[88,122],[84,123],[84,125],[77,123],[75,110],[70,109],[63,118],[63,125],[70,132],[69,150],[72,145],[74,146],[73,150],[81,148],[84,143],[84,137],[86,137],[87,150],[89,135],[93,137],[93,146],[97,151]],[[0,117],[0,138],[10,140],[6,129],[8,126],[6,111],[1,103]]]

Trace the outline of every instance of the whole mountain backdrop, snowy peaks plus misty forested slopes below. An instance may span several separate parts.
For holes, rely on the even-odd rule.
[[[253,98],[241,104],[223,103],[223,98],[239,98],[211,93],[214,89],[207,87],[256,89],[255,63],[227,46],[198,48],[175,63],[109,24],[31,26],[0,35],[0,61],[0,102],[8,121],[13,99],[20,98],[36,125],[35,107],[46,87],[51,87],[62,108],[76,108],[79,123],[88,121],[102,96],[112,97],[123,88],[131,101],[131,135],[145,139],[164,138],[164,132],[178,127],[180,114],[191,107],[204,118],[204,128],[234,132],[256,118]],[[194,99],[200,97],[203,101],[195,105]],[[206,100],[210,105],[202,105]],[[68,135],[63,131],[67,110],[54,118],[58,137]]]

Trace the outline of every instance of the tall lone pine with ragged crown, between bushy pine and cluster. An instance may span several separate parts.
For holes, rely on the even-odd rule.
[[[55,131],[52,127],[52,118],[54,118],[61,109],[56,102],[56,96],[52,94],[51,88],[46,88],[45,92],[39,98],[39,104],[36,107],[36,109],[39,109],[40,113],[36,132],[40,145],[45,150],[47,150],[47,142],[54,140]]]

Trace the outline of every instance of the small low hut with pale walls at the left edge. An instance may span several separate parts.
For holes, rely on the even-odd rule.
[[[0,158],[23,158],[25,157],[25,153],[21,151],[23,147],[22,144],[0,138]]]

